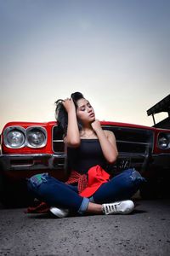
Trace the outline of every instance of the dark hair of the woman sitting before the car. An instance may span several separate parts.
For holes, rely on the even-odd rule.
[[[74,92],[71,94],[71,98],[75,104],[76,110],[77,110],[77,101],[84,98],[81,92]],[[63,106],[63,100],[59,99],[55,102],[56,108],[55,108],[55,118],[57,119],[59,123],[59,128],[61,128],[64,137],[66,135],[67,126],[68,126],[68,114],[65,110],[65,107]],[[82,130],[82,125],[80,121],[77,119],[78,128],[79,130]]]

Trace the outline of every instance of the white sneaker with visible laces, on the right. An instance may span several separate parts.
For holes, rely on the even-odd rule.
[[[126,201],[116,201],[113,203],[103,204],[104,214],[128,214],[133,212],[134,204],[131,200]]]

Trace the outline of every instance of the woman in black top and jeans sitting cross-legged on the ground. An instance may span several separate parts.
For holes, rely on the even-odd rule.
[[[144,177],[128,169],[110,179],[105,169],[116,161],[116,138],[113,132],[102,129],[90,102],[82,93],[73,93],[70,99],[56,102],[56,118],[64,131],[71,175],[62,183],[48,173],[37,174],[28,181],[31,192],[45,201],[59,218],[70,212],[132,212],[134,205],[129,199],[144,182]]]

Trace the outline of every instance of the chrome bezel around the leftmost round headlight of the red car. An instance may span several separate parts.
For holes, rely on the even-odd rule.
[[[12,146],[12,143],[8,143],[8,133],[9,132],[20,132],[23,136],[23,142],[20,143],[20,146]],[[24,148],[26,146],[26,130],[21,126],[9,126],[3,131],[3,140],[7,148]]]

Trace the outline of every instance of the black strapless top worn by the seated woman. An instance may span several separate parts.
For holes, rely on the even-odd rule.
[[[99,165],[105,169],[106,160],[98,139],[82,139],[80,147],[67,148],[69,170],[81,174],[87,173],[92,166]]]

